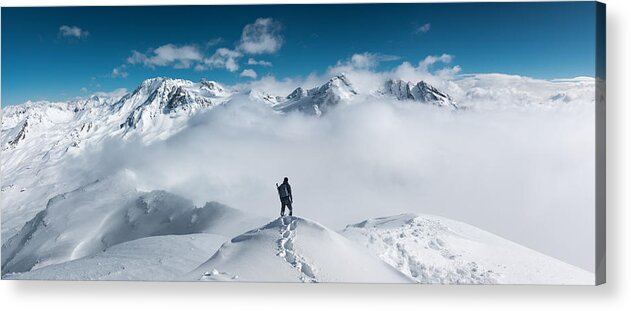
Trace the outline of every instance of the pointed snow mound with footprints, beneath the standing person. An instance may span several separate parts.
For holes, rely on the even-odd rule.
[[[233,238],[187,279],[413,282],[338,233],[314,221],[290,216]]]

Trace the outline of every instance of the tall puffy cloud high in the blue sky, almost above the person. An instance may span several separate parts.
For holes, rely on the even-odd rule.
[[[259,18],[245,25],[237,48],[246,54],[276,53],[283,45],[282,25],[272,18]]]

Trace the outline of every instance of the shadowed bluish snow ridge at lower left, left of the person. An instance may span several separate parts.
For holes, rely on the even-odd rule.
[[[120,175],[49,200],[2,245],[2,274],[25,272],[158,235],[214,233],[225,237],[263,223],[219,203],[198,208],[165,191],[138,192]]]

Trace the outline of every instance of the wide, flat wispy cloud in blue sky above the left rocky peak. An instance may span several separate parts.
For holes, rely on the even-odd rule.
[[[195,62],[202,60],[202,53],[194,45],[176,46],[165,44],[154,50],[149,50],[146,54],[132,51],[132,55],[127,58],[130,64],[142,64],[149,68],[156,66],[173,66],[174,68],[190,68]]]

